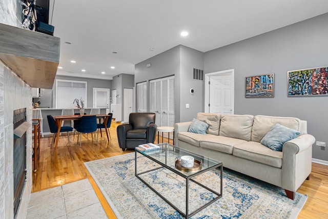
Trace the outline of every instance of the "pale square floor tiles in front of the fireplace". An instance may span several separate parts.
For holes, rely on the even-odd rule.
[[[88,179],[31,194],[26,218],[108,218]]]

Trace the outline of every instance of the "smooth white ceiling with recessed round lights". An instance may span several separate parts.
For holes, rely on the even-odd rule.
[[[326,13],[328,1],[50,0],[49,12],[61,40],[57,74],[112,79],[177,45],[206,52]]]

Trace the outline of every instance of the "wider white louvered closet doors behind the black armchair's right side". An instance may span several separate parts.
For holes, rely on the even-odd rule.
[[[174,76],[150,81],[150,111],[156,113],[157,126],[173,126]]]

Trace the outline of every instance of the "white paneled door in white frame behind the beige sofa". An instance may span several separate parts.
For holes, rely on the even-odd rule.
[[[210,113],[234,113],[234,70],[206,75],[205,111]]]

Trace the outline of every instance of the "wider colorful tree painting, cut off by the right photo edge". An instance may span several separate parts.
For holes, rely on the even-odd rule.
[[[288,71],[288,96],[318,95],[328,95],[328,66]]]

